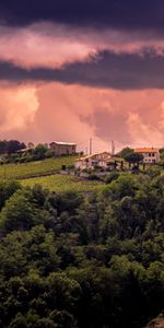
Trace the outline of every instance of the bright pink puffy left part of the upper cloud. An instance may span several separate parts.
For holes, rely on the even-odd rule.
[[[58,68],[66,62],[90,59],[94,54],[94,47],[72,37],[63,26],[0,27],[0,59],[21,67]]]

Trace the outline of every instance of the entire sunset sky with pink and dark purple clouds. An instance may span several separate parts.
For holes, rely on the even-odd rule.
[[[163,0],[1,0],[0,139],[164,145]]]

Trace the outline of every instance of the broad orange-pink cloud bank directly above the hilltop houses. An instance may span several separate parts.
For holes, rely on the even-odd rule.
[[[164,93],[115,91],[60,83],[0,89],[1,138],[74,141],[94,151],[124,145],[163,145]]]

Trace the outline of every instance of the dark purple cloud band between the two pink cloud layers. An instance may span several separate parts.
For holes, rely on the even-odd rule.
[[[154,52],[130,55],[104,51],[98,61],[74,62],[62,69],[23,69],[0,62],[0,80],[58,81],[119,90],[164,89],[164,57]]]

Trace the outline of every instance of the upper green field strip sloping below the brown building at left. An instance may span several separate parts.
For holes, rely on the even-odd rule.
[[[48,159],[24,164],[5,164],[0,166],[0,179],[24,179],[37,175],[56,173],[62,165],[74,163],[75,156]]]

